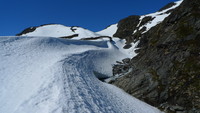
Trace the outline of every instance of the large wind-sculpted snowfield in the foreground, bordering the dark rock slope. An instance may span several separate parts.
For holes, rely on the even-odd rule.
[[[160,113],[95,77],[127,57],[117,45],[0,37],[0,113]]]

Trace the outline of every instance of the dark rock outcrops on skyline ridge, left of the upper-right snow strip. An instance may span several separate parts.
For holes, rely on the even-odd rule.
[[[174,5],[176,5],[176,4],[169,3],[165,7],[161,8],[159,10],[159,12],[166,10],[168,8],[171,8]],[[174,9],[162,12],[162,13],[160,13],[160,15],[163,15],[166,13],[167,14],[171,13],[173,10]],[[126,39],[126,41],[127,41],[126,46],[128,47],[128,45],[130,43],[138,41],[143,36],[142,34],[144,31],[146,31],[146,27],[142,27],[142,26],[144,26],[148,23],[151,23],[153,19],[154,19],[154,17],[149,16],[149,15],[144,15],[144,17],[142,19],[141,19],[141,16],[136,16],[136,15],[129,16],[129,17],[119,21],[118,29],[113,36]],[[125,47],[125,48],[127,48],[127,47]]]

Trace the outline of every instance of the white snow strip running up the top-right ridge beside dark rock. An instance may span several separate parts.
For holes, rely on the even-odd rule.
[[[142,28],[146,27],[146,30],[145,30],[143,33],[149,31],[152,27],[154,27],[154,26],[156,26],[157,24],[161,23],[166,17],[168,17],[168,16],[171,14],[171,13],[167,13],[169,10],[172,10],[172,9],[177,8],[182,2],[183,2],[183,0],[179,0],[179,1],[175,2],[175,5],[174,5],[174,6],[168,8],[168,9],[165,9],[165,10],[163,10],[163,11],[158,11],[158,12],[156,12],[156,13],[151,13],[151,14],[147,14],[147,15],[141,16],[141,17],[140,17],[140,22],[139,22],[138,26],[139,26],[140,23],[142,22],[142,19],[145,18],[145,17],[150,16],[150,17],[153,18],[153,20],[150,21],[150,22],[148,22],[147,24],[141,26],[141,27],[139,28],[139,30],[141,30]],[[136,31],[137,31],[137,30],[135,30],[135,31],[133,32],[133,34],[134,34]]]

